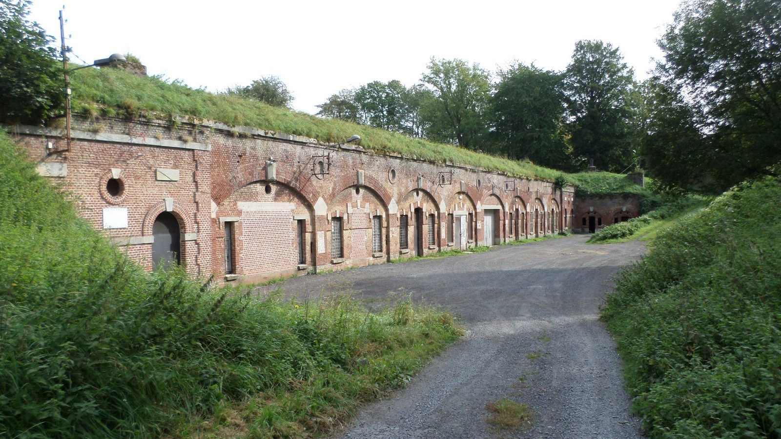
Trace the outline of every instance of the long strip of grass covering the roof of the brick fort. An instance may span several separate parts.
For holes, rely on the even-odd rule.
[[[363,148],[428,162],[451,162],[497,170],[517,177],[553,181],[562,172],[530,162],[502,159],[482,152],[415,139],[387,130],[344,120],[322,119],[303,112],[273,107],[237,95],[192,89],[177,81],[135,77],[118,69],[84,69],[73,72],[73,109],[87,116],[192,116],[230,125],[314,137],[323,142],[361,136]]]

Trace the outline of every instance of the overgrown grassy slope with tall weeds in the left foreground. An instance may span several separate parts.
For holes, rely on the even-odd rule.
[[[0,134],[0,437],[307,437],[460,328],[408,300],[259,300],[144,273]]]

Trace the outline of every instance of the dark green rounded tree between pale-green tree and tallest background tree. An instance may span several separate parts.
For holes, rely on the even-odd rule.
[[[499,151],[511,159],[568,169],[562,75],[519,63],[500,70],[499,77],[491,98]]]

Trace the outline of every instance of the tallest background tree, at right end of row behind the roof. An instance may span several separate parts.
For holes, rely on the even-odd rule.
[[[565,72],[572,152],[594,159],[603,170],[621,171],[631,163],[629,94],[633,70],[619,48],[602,41],[578,41]]]

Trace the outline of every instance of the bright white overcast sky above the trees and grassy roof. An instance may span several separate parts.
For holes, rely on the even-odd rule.
[[[84,61],[132,53],[149,74],[223,91],[280,77],[314,114],[343,88],[420,81],[432,56],[492,72],[513,61],[563,70],[579,40],[618,46],[639,79],[679,0],[34,0],[37,21]],[[72,61],[79,62],[72,58]]]

